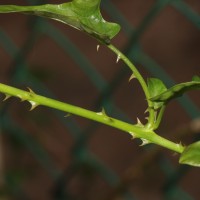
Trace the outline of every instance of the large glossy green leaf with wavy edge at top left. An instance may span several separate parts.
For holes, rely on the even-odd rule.
[[[0,5],[0,13],[22,12],[51,18],[68,24],[109,44],[119,32],[120,26],[106,22],[100,13],[101,0],[73,0],[63,4],[39,6]]]

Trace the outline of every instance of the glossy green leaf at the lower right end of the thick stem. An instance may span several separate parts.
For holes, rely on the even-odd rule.
[[[179,163],[200,167],[200,141],[195,142],[184,149],[179,159]]]

